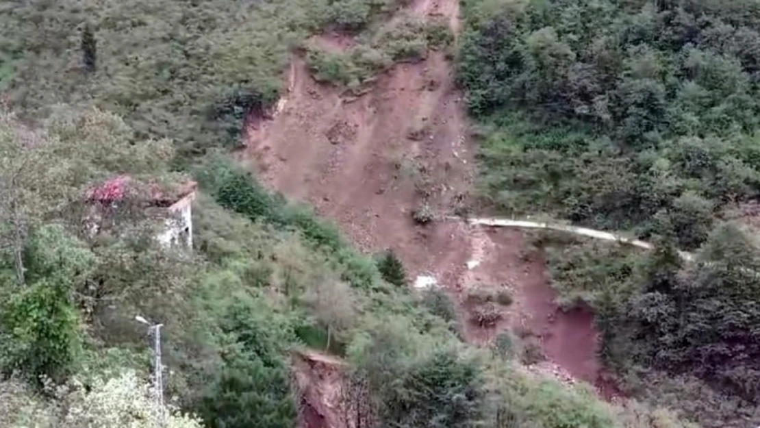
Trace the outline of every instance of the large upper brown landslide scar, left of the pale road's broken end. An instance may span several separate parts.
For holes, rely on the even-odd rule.
[[[412,219],[423,201],[443,213],[470,188],[461,99],[442,52],[397,65],[355,100],[313,81],[302,59],[293,64],[281,112],[249,128],[249,159],[264,181],[337,220],[360,249],[394,249],[410,274],[457,277],[467,227]]]

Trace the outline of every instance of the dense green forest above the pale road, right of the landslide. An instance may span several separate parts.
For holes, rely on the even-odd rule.
[[[502,3],[466,2],[460,55],[497,209],[695,249],[757,197],[755,2]]]

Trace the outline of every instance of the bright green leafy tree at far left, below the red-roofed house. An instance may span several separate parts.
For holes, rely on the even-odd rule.
[[[40,376],[61,381],[80,357],[81,320],[72,294],[93,254],[55,224],[33,231],[24,253],[28,283],[0,287],[0,334],[7,345],[2,369],[35,382]]]

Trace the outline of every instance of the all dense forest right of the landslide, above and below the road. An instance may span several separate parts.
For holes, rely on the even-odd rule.
[[[760,5],[467,0],[464,14],[484,207],[652,239],[651,254],[543,243],[562,303],[595,310],[632,394],[705,426],[756,424]]]

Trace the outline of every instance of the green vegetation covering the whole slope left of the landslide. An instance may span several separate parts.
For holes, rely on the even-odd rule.
[[[362,426],[687,426],[467,347],[445,296],[419,299],[391,255],[378,268],[217,150],[239,144],[245,119],[277,98],[306,36],[361,32],[399,5],[0,6],[2,426],[157,426],[150,340],[135,315],[164,325],[170,428],[302,423],[291,355],[305,348],[347,362]],[[101,207],[96,233],[87,194],[124,175],[128,192]],[[145,201],[191,178],[194,250],[163,248],[153,236],[165,219]]]

